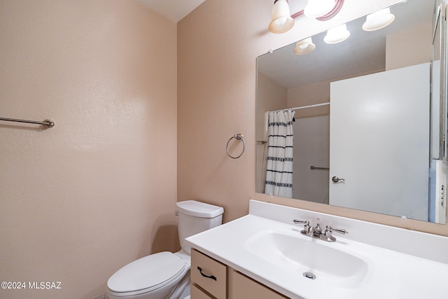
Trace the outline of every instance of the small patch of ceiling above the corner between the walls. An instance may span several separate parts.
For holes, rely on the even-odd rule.
[[[200,6],[205,0],[137,0],[147,8],[160,13],[165,18],[179,22]]]

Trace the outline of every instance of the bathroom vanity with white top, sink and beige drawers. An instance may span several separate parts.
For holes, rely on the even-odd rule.
[[[343,228],[326,242],[293,219]],[[251,200],[188,237],[192,298],[447,298],[448,237]]]

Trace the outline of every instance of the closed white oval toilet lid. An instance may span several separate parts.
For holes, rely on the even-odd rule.
[[[186,261],[171,252],[164,251],[134,260],[115,272],[107,286],[115,292],[152,291],[176,279]]]

